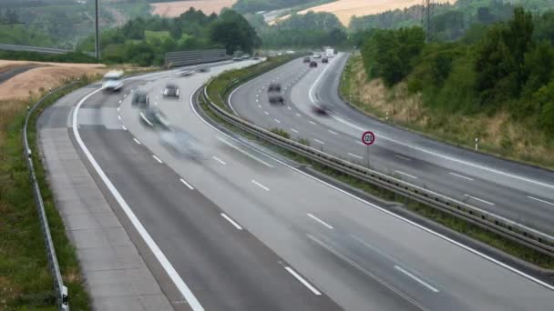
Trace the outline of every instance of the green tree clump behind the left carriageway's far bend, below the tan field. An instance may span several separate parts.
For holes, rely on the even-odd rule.
[[[129,20],[104,31],[100,43],[104,61],[161,65],[167,52],[209,48],[225,48],[228,54],[235,50],[251,52],[261,41],[246,19],[232,10],[205,15],[190,8],[176,18]],[[94,50],[94,37],[87,37],[78,49]]]

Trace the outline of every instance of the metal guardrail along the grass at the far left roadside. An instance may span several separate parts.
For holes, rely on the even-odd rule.
[[[42,195],[40,193],[40,187],[38,186],[38,182],[36,181],[35,166],[33,166],[33,153],[31,151],[31,148],[29,147],[29,141],[27,139],[27,125],[29,123],[30,116],[33,114],[36,108],[46,100],[46,98],[48,98],[50,95],[55,94],[58,91],[66,89],[67,87],[75,84],[77,84],[77,82],[72,82],[68,85],[58,87],[55,90],[50,91],[50,93],[48,93],[44,97],[42,97],[38,102],[36,102],[35,105],[33,105],[32,108],[30,108],[27,111],[27,115],[25,118],[25,125],[23,127],[23,144],[25,146],[24,154],[27,159],[26,162],[27,162],[27,167],[29,169],[29,176],[31,178],[31,182],[33,183],[33,190],[34,190],[33,193],[35,195],[36,210],[40,218],[40,226],[42,229],[43,236],[45,238],[46,256],[48,257],[48,267],[50,268],[50,273],[54,278],[54,286],[55,286],[56,295],[57,295],[56,301],[57,301],[57,307],[59,310],[69,310],[67,287],[64,286],[64,281],[62,279],[59,265],[57,263],[56,249],[54,248],[54,242],[52,241],[52,235],[50,234],[50,227],[48,226],[48,219],[46,218],[46,210],[45,210],[44,202],[42,199]]]

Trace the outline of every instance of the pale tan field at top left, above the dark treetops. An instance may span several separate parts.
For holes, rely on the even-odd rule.
[[[224,7],[231,7],[237,0],[190,0],[180,2],[163,2],[152,4],[154,14],[165,17],[177,17],[182,13],[189,11],[190,7],[202,10],[204,14],[220,14]]]

